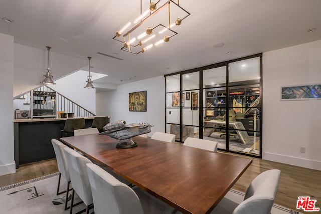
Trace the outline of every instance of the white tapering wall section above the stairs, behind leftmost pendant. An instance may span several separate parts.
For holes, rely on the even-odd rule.
[[[88,60],[50,51],[50,69],[54,81],[83,67],[88,67]],[[41,85],[48,66],[48,53],[44,49],[14,44],[14,97]]]

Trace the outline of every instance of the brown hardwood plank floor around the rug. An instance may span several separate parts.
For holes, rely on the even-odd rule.
[[[230,155],[236,155],[228,153]],[[241,155],[237,155],[241,156]],[[263,171],[269,169],[281,170],[279,188],[275,203],[296,210],[299,196],[310,196],[317,200],[316,207],[321,208],[321,171],[302,167],[262,160],[253,157],[253,163],[233,186],[234,189],[245,192],[251,181]],[[58,172],[56,159],[43,160],[34,163],[20,165],[16,173],[0,176],[0,187],[30,180],[44,175]],[[303,210],[298,210],[302,213]]]

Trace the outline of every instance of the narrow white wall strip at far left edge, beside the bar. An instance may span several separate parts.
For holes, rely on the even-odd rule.
[[[0,175],[15,173],[14,161],[14,38],[0,34]]]

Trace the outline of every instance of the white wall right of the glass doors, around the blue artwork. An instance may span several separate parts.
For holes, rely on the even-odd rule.
[[[321,170],[321,100],[280,101],[281,86],[321,84],[320,68],[321,40],[263,54],[263,159]]]

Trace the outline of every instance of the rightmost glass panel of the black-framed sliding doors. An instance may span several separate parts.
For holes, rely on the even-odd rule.
[[[230,63],[229,150],[259,155],[260,58]]]

